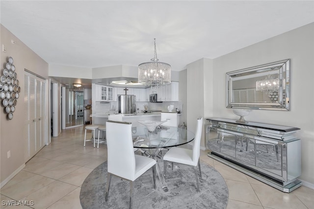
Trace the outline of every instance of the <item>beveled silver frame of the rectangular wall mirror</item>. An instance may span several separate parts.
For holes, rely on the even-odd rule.
[[[234,82],[245,78],[257,78],[262,75],[278,75],[279,89],[277,101],[242,102],[235,101]],[[238,109],[290,110],[290,59],[245,68],[226,73],[226,107]],[[245,83],[245,82],[243,82]],[[251,88],[252,89],[252,88]],[[254,90],[254,89],[253,89]],[[255,89],[256,90],[256,89]],[[254,91],[254,95],[258,90]],[[268,92],[268,91],[265,91]],[[248,98],[248,91],[246,93]],[[248,99],[247,99],[248,100]]]

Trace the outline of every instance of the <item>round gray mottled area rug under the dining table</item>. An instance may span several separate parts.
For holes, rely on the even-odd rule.
[[[159,166],[163,171],[163,162]],[[133,209],[225,209],[229,191],[227,185],[213,167],[201,163],[200,192],[196,191],[193,168],[182,164],[170,164],[166,182],[168,192],[162,190],[157,178],[153,185],[153,172],[148,170],[134,182]],[[178,167],[179,165],[179,167]],[[157,174],[156,174],[157,175]],[[129,208],[130,183],[112,176],[108,201],[105,202],[107,162],[95,168],[85,179],[79,195],[83,209]]]

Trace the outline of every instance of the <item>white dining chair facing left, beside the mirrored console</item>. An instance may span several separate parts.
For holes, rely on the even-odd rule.
[[[202,178],[201,165],[200,165],[200,144],[202,136],[202,126],[203,118],[197,119],[197,128],[194,137],[193,149],[185,149],[181,147],[172,147],[166,154],[163,156],[163,175],[166,178],[167,172],[167,161],[181,163],[185,165],[191,165],[194,168],[195,178],[196,178],[196,187],[197,191],[200,191],[199,179],[197,174],[197,166],[200,171],[200,178]],[[173,168],[173,165],[172,165]]]

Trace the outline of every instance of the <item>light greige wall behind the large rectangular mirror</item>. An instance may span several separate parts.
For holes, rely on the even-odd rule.
[[[212,116],[238,118],[232,109],[226,108],[227,72],[288,58],[291,59],[290,111],[252,110],[245,119],[300,128],[297,134],[302,144],[300,180],[314,186],[314,23],[214,59]],[[205,93],[205,97],[211,99],[210,94]]]

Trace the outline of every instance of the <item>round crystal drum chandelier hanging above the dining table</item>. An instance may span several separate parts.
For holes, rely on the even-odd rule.
[[[138,82],[148,86],[158,86],[171,82],[171,66],[164,62],[158,62],[156,52],[156,38],[154,38],[154,58],[152,62],[144,62],[138,65]]]

